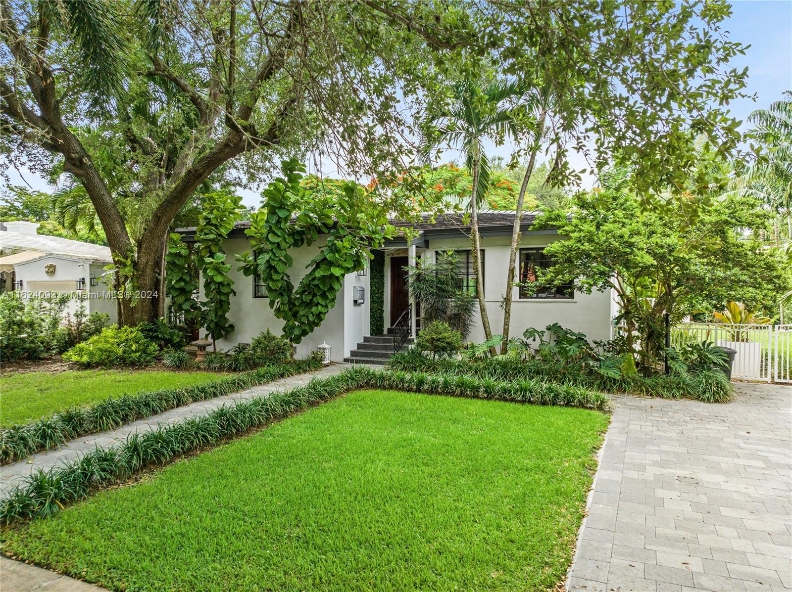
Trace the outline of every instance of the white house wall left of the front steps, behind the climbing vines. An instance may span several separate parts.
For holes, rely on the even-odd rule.
[[[326,237],[319,237],[313,245],[291,249],[294,263],[289,269],[291,283],[295,287],[307,274],[306,266],[316,256],[320,247],[324,246]],[[226,261],[231,264],[230,277],[234,279],[236,295],[231,297],[229,320],[234,324],[234,332],[224,340],[218,340],[218,349],[228,349],[237,343],[250,343],[253,337],[269,329],[280,335],[284,323],[277,319],[269,308],[268,298],[253,298],[253,278],[246,277],[238,271],[239,264],[236,255],[250,250],[246,238],[232,238],[225,241],[223,249],[226,252]],[[352,287],[364,286],[366,298],[364,305],[352,304]],[[203,279],[200,280],[200,298],[204,299]],[[336,305],[329,309],[325,321],[310,335],[303,337],[297,344],[297,356],[304,358],[316,349],[322,341],[326,341],[333,349],[330,353],[334,362],[341,362],[349,355],[349,351],[356,347],[358,341],[363,341],[369,326],[369,290],[368,275],[358,277],[348,274],[344,285],[338,290]],[[201,330],[201,336],[205,330]]]

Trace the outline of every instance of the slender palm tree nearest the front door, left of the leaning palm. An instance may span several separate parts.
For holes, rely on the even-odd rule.
[[[478,308],[487,340],[492,337],[492,330],[484,301],[484,278],[479,256],[482,242],[478,232],[478,203],[485,199],[489,187],[489,160],[484,152],[484,142],[488,139],[500,142],[507,137],[517,138],[525,95],[524,88],[516,82],[497,80],[482,88],[475,82],[465,80],[455,85],[454,99],[448,108],[429,122],[436,130],[432,144],[462,150],[466,167],[473,176],[470,191],[470,254],[476,275]]]

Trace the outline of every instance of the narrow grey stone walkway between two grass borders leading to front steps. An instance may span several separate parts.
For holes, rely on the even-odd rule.
[[[348,364],[334,364],[333,366],[326,366],[315,372],[280,378],[266,385],[254,386],[253,388],[240,391],[239,393],[198,401],[197,403],[160,413],[157,416],[139,419],[136,422],[127,423],[116,430],[77,438],[76,440],[67,442],[60,450],[48,450],[47,452],[34,454],[32,457],[26,458],[25,460],[0,468],[0,498],[8,495],[14,485],[23,480],[25,476],[28,476],[35,469],[51,469],[51,467],[59,465],[63,463],[63,461],[72,461],[74,458],[78,457],[80,453],[93,450],[97,446],[105,448],[126,441],[127,436],[135,432],[143,433],[151,431],[160,423],[178,423],[188,417],[202,416],[216,408],[222,407],[223,404],[237,400],[265,397],[269,393],[278,390],[287,390],[295,386],[306,385],[311,378],[337,374],[348,367]]]

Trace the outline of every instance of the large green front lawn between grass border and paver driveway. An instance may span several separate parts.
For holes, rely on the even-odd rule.
[[[6,530],[113,590],[544,590],[608,417],[365,391]]]

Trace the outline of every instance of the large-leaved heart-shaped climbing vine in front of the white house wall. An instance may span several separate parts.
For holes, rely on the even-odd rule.
[[[255,258],[246,252],[238,260],[245,275],[258,275],[267,287],[284,336],[299,343],[336,305],[344,276],[364,268],[369,249],[381,246],[393,226],[383,203],[356,183],[345,184],[342,192],[312,191],[300,184],[305,168],[293,159],[281,163],[281,172],[263,192],[261,210],[246,230]],[[289,249],[311,245],[320,234],[327,235],[326,243],[295,288]]]

